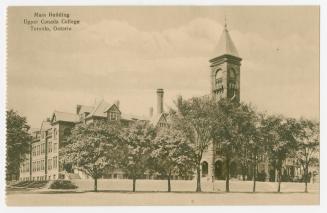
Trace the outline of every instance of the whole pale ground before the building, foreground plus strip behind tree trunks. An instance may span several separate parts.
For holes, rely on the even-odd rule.
[[[309,184],[303,193],[303,183],[282,183],[282,193],[276,193],[277,183],[257,182],[257,193],[252,193],[251,181],[231,181],[230,193],[225,193],[225,182],[202,182],[202,193],[195,193],[195,181],[172,181],[171,193],[167,181],[138,180],[137,192],[131,180],[99,180],[93,190],[92,180],[76,180],[77,191],[8,190],[9,206],[94,206],[94,205],[318,205],[319,184]],[[213,192],[214,187],[214,192]]]

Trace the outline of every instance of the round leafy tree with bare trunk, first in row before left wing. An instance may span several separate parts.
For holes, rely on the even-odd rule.
[[[119,123],[115,122],[94,121],[76,125],[67,145],[60,149],[61,163],[72,163],[91,176],[97,191],[97,179],[106,169],[117,165],[117,155],[120,154],[118,131]]]

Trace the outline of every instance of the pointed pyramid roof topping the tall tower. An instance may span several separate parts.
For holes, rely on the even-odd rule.
[[[216,56],[232,55],[239,57],[234,42],[232,41],[232,38],[229,35],[226,23],[214,53]]]

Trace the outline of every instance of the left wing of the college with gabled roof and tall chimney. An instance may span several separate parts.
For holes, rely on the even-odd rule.
[[[94,105],[76,105],[75,113],[54,111],[49,118],[42,121],[40,128],[32,129],[33,141],[30,153],[20,165],[20,180],[55,180],[87,178],[78,170],[63,168],[59,163],[60,145],[71,134],[72,128],[79,123],[92,123],[95,120],[116,121],[130,123],[137,120],[147,121],[156,127],[167,124],[166,113],[163,109],[164,90],[157,89],[157,112],[150,108],[148,116],[125,114],[120,110],[120,102],[108,103],[105,100]],[[105,177],[123,178],[121,170],[110,171]]]

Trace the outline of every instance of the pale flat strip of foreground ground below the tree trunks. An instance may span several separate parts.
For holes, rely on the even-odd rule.
[[[318,205],[319,193],[84,192],[9,194],[9,206]]]

